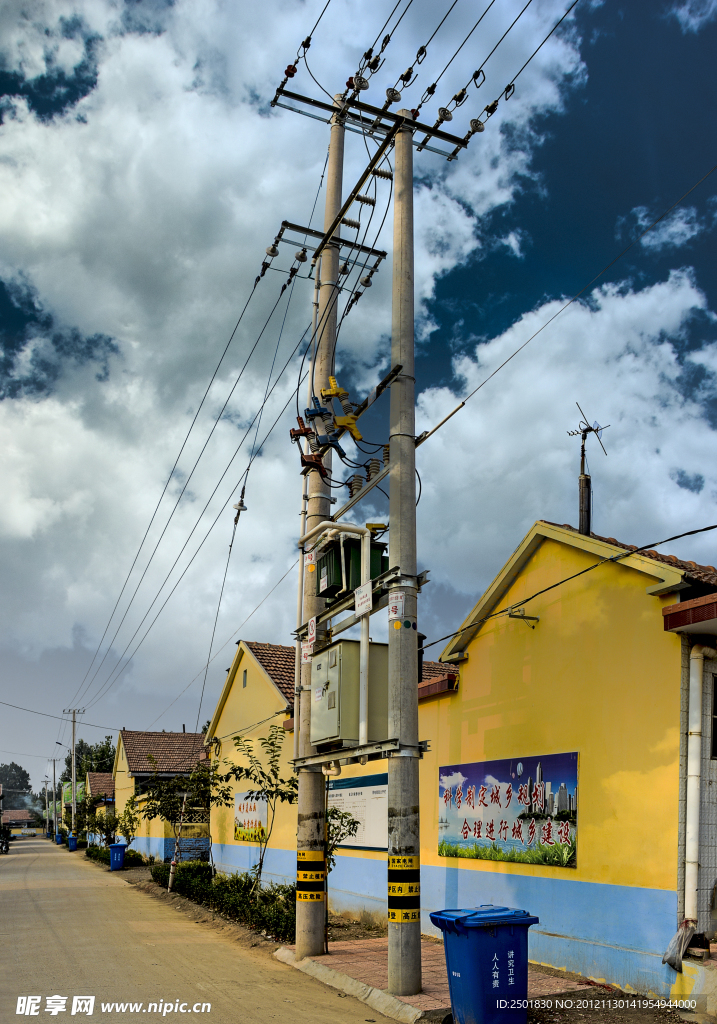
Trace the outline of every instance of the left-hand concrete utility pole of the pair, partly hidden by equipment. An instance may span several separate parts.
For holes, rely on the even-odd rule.
[[[337,106],[340,96],[334,97]],[[331,122],[329,164],[326,176],[326,210],[324,229],[329,230],[341,209],[343,183],[344,127],[336,117]],[[319,301],[319,329],[314,340],[313,394],[321,396],[321,389],[328,388],[329,377],[334,372],[336,346],[337,284],[339,275],[339,248],[329,244],[322,253],[321,288]],[[309,388],[311,382],[309,381]],[[324,465],[331,472],[331,456],[324,456]],[[306,531],[328,519],[331,514],[331,489],[317,471],[309,475]],[[303,620],[308,622],[324,610],[326,601],[314,596],[315,581],[308,575],[304,590]],[[318,638],[320,639],[320,638]],[[311,746],[311,664],[302,666],[301,694],[299,701],[299,757],[308,757]],[[296,728],[296,726],[294,726]],[[299,770],[298,825],[296,831],[297,893],[296,893],[296,958],[320,955],[324,951],[324,919],[326,908],[326,811],[325,781],[321,767]]]

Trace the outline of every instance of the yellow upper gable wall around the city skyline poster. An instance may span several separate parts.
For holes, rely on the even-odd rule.
[[[545,540],[499,607],[594,564]],[[674,889],[677,880],[680,638],[663,630],[673,595],[607,564],[530,603],[536,629],[500,616],[467,647],[458,693],[424,703],[422,862],[437,856],[442,765],[578,751],[578,866],[455,860],[461,868]],[[647,841],[648,839],[648,841]]]

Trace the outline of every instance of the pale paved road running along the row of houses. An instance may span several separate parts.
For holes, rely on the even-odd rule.
[[[20,1020],[18,996],[40,995],[44,1021],[73,1017],[73,997],[94,995],[107,1022],[365,1024],[385,1017],[253,949],[196,924],[83,853],[44,839],[18,840],[0,857],[0,1022]],[[271,947],[273,948],[273,947]],[[65,1013],[46,997],[68,996]],[[163,1000],[161,1011],[160,999]],[[175,1007],[185,1005],[184,1013]],[[126,1004],[102,1010],[102,1004]],[[130,1011],[129,1004],[142,1004]],[[158,1010],[149,1009],[157,1004]],[[167,1007],[172,1009],[167,1013]],[[211,1011],[201,1012],[203,1004]],[[193,1008],[196,1007],[196,1012]],[[188,1016],[187,1016],[188,1014]]]

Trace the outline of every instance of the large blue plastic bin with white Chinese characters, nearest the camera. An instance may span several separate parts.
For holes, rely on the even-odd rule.
[[[538,918],[509,906],[438,910],[454,1024],[511,1024],[528,1016],[528,929]]]

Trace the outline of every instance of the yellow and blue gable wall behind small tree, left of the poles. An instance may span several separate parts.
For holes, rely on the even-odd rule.
[[[243,676],[246,670],[247,685],[243,686]],[[254,657],[244,648],[239,648],[234,665],[227,677],[230,683],[223,708],[214,723],[213,734],[219,740],[218,760],[223,762],[223,768],[231,764],[241,764],[242,758],[237,752],[234,735],[241,732],[251,739],[254,751],[263,757],[259,748],[259,738],[268,735],[271,725],[282,726],[285,716],[263,722],[246,731],[247,726],[268,718],[276,712],[286,708],[286,698],[277,690]],[[292,777],[290,764],[294,756],[293,733],[284,736],[281,757],[281,774],[283,778]],[[246,782],[233,782],[233,794],[244,793],[248,788]],[[234,838],[234,797],[231,806],[212,808],[211,835],[213,844],[219,844],[220,850],[215,850],[215,859],[225,869],[245,869],[254,863],[254,853],[258,849],[256,843],[239,842]],[[296,804],[281,804],[271,834],[270,847],[276,850],[296,850]],[[244,850],[244,853],[238,851]],[[296,857],[293,855],[295,863]]]

